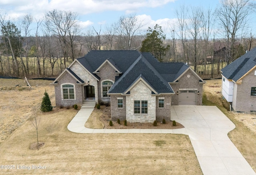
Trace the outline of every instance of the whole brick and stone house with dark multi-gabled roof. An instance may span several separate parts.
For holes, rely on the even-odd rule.
[[[203,81],[184,63],[160,63],[150,53],[90,51],[52,85],[57,106],[110,102],[112,120],[171,120],[171,105],[202,105]]]

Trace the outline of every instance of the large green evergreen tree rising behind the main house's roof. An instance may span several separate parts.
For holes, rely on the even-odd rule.
[[[164,47],[166,35],[162,31],[162,27],[156,24],[154,29],[148,28],[146,39],[142,41],[140,51],[152,53],[158,61],[163,61],[164,55],[170,49],[170,45]]]

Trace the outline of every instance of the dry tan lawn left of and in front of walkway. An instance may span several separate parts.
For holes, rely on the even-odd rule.
[[[68,131],[77,110],[39,111],[45,89],[55,105],[54,87],[49,83],[30,80],[34,90],[28,90],[22,88],[24,80],[0,79],[0,130],[8,131],[0,142],[0,165],[8,166],[0,169],[0,174],[202,175],[186,135]],[[29,120],[33,108],[38,108],[39,142],[44,142],[39,150],[30,149],[36,142],[36,130]],[[32,169],[34,166],[44,169]]]

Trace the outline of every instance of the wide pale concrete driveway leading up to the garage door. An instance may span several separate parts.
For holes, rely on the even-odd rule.
[[[216,106],[173,106],[172,120],[183,124],[204,175],[255,175],[227,134],[235,125]]]

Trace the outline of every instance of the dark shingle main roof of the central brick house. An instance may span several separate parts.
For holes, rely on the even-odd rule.
[[[77,59],[92,75],[104,63],[110,61],[122,74],[109,93],[123,93],[138,77],[142,77],[158,93],[173,93],[168,82],[176,80],[189,67],[184,63],[160,63],[151,53],[138,51],[90,51]]]

